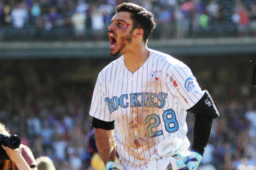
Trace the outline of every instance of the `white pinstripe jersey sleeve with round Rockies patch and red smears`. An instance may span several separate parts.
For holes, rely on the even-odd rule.
[[[204,95],[190,68],[180,62],[167,70],[167,86],[185,110],[193,107]]]

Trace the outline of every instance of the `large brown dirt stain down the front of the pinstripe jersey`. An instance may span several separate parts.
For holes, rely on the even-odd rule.
[[[164,82],[162,79],[159,77],[159,79],[155,79],[156,77],[148,77],[148,82],[143,83],[142,86],[142,91],[138,91],[137,93],[154,93],[158,94],[162,92],[162,85],[164,85]],[[176,82],[177,83],[177,82]],[[178,83],[177,83],[178,85]],[[145,101],[144,105],[147,103],[147,97],[149,96],[144,96]],[[154,96],[152,95],[152,98]],[[142,95],[140,95],[138,98],[139,103],[142,101]],[[151,101],[151,105],[154,103],[159,103],[157,97],[154,97],[154,101]],[[143,105],[143,104],[142,104]],[[161,109],[160,109],[161,110]],[[158,107],[132,107],[130,108],[130,113],[128,117],[128,128],[129,128],[129,137],[130,137],[130,142],[127,144],[130,149],[129,149],[129,154],[134,155],[134,157],[138,160],[141,160],[144,158],[144,152],[150,152],[154,153],[157,150],[156,145],[159,143],[159,138],[158,136],[154,137],[149,137],[148,132],[152,130],[152,132],[161,130],[161,126],[159,125],[158,127],[154,128],[148,128],[148,125],[155,123],[154,117],[148,117],[152,114],[158,115],[159,108]],[[159,116],[159,115],[158,115]],[[150,118],[150,122],[146,123],[145,119]],[[133,150],[134,149],[134,150]],[[128,148],[127,148],[128,150]],[[142,150],[142,151],[141,151]],[[141,153],[139,152],[141,151]],[[138,153],[139,152],[139,153]]]

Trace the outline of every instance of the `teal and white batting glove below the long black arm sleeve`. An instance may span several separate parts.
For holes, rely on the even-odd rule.
[[[184,164],[188,166],[189,170],[196,170],[202,160],[202,155],[197,152],[190,152],[183,160]]]

